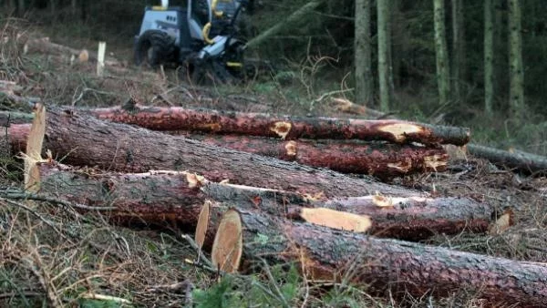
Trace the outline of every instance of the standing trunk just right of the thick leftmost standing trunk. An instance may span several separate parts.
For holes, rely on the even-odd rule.
[[[378,77],[380,86],[380,110],[389,111],[391,103],[391,69],[389,50],[391,34],[389,33],[390,1],[377,1],[377,28],[378,28]]]

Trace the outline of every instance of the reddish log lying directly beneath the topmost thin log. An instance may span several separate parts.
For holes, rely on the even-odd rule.
[[[296,161],[303,165],[343,173],[370,174],[382,179],[417,172],[444,171],[448,161],[448,154],[442,148],[374,141],[351,143],[335,140],[279,141],[239,135],[186,136],[223,148]]]

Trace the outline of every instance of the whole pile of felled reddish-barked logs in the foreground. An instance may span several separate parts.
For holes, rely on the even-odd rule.
[[[306,160],[331,155],[344,166],[355,151],[352,155],[363,157],[368,166],[397,159],[418,164],[420,155],[423,164],[426,155],[446,155],[440,144],[469,140],[465,129],[442,131],[396,120],[268,118],[182,108],[48,108],[32,125],[9,128],[15,149],[26,145],[51,155],[29,155],[26,192],[3,197],[71,202],[119,223],[177,224],[184,230],[200,224],[203,249],[212,249],[221,271],[246,271],[249,263],[266,256],[271,262],[301,262],[310,280],[340,281],[349,274],[350,281],[379,293],[445,296],[464,288],[492,305],[545,306],[543,264],[411,242],[436,233],[488,231],[496,209],[487,202],[409,190],[367,175],[316,168],[332,165]],[[372,146],[379,142],[386,153],[399,157],[366,160],[368,152],[379,151]],[[301,156],[283,160],[283,149],[293,147],[302,149]],[[439,166],[413,171],[432,169]]]

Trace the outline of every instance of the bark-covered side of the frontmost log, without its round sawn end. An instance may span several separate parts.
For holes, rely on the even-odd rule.
[[[467,290],[490,303],[547,305],[547,267],[538,263],[375,239],[253,211],[240,212],[247,262],[264,256],[272,262],[304,262],[308,276],[318,280],[341,280],[350,271],[356,282],[401,296],[447,296]]]

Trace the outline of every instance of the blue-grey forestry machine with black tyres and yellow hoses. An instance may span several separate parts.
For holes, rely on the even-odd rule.
[[[251,0],[253,1],[253,0]],[[195,83],[233,83],[243,77],[238,15],[249,0],[186,0],[184,6],[147,6],[135,36],[137,65],[175,64]],[[251,2],[252,4],[252,2]]]

